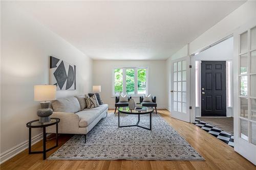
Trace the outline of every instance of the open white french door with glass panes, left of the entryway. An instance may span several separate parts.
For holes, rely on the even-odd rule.
[[[170,89],[171,116],[190,123],[190,57],[172,61]]]

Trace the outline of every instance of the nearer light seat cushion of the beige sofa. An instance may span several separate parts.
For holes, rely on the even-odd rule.
[[[79,127],[88,127],[100,114],[99,110],[82,110],[75,113],[79,116]]]

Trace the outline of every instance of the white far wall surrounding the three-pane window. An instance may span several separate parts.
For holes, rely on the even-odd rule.
[[[112,73],[115,67],[148,66],[149,89],[148,94],[157,96],[158,108],[166,107],[166,76],[164,60],[94,60],[93,85],[101,85],[101,97],[110,108],[115,106],[112,96]]]

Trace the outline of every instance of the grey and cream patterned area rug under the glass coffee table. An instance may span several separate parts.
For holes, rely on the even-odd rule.
[[[139,125],[149,127],[150,115]],[[120,125],[136,124],[138,115],[120,113]],[[118,128],[117,114],[103,118],[88,134],[74,135],[48,159],[69,160],[204,160],[159,114],[152,114],[152,131]]]

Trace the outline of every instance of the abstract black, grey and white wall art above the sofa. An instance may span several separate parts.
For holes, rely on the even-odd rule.
[[[76,66],[50,56],[50,84],[57,90],[75,90]]]

